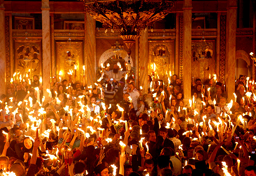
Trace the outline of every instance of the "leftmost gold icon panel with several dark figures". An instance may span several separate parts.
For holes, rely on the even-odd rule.
[[[17,79],[22,75],[27,81],[27,74],[30,79],[34,75],[42,76],[41,40],[14,40],[14,67]]]

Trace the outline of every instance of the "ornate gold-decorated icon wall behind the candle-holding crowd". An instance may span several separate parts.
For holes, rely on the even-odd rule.
[[[220,76],[221,82],[225,83],[227,75],[227,2],[210,1],[205,7],[209,15],[216,15],[216,20],[212,21],[215,25],[210,24],[208,29],[198,27],[204,20],[192,22],[191,29],[191,79],[201,78],[205,80],[212,75],[214,70]],[[193,1],[192,13],[202,13],[201,4]],[[14,72],[23,74],[29,73],[28,77],[33,75],[53,77],[56,75],[59,80],[60,70],[63,72],[61,79],[68,79],[67,72],[74,70],[74,64],[77,65],[77,77],[81,80],[83,75],[82,66],[86,65],[85,72],[88,74],[87,82],[92,84],[96,81],[97,68],[102,60],[109,59],[111,55],[111,45],[116,41],[123,44],[117,32],[111,32],[109,29],[98,27],[89,15],[84,13],[82,2],[49,2],[49,19],[50,19],[50,42],[43,42],[42,10],[41,2],[27,4],[25,11],[24,2],[5,1],[5,81],[10,84],[10,79]],[[158,72],[159,79],[168,82],[169,71],[171,75],[178,75],[183,80],[186,71],[186,55],[184,53],[184,37],[187,35],[184,24],[184,4],[182,1],[175,2],[173,9],[173,24],[168,29],[158,29],[158,27],[167,27],[167,22],[157,22],[145,31],[142,30],[140,39],[132,47],[132,63],[135,72],[136,86],[142,82],[145,77],[154,72],[154,63]],[[69,9],[69,11],[68,11]],[[212,14],[211,14],[212,13]],[[18,14],[18,15],[17,15]],[[27,16],[27,17],[25,17]],[[41,18],[41,21],[39,20]],[[157,26],[158,25],[158,26]],[[146,35],[146,36],[145,36]],[[247,54],[253,50],[253,28],[236,29],[237,50],[243,50]],[[202,37],[205,38],[207,47],[202,54],[198,48]],[[68,43],[68,39],[71,42]],[[243,42],[239,42],[243,41]],[[245,41],[248,41],[246,46]],[[50,63],[49,68],[43,68],[43,45],[50,46]],[[251,49],[250,49],[251,47]],[[28,50],[27,50],[28,48]],[[126,50],[126,46],[124,48]],[[161,49],[161,52],[159,52]],[[70,59],[74,63],[67,64],[67,50],[71,51]],[[207,52],[210,52],[210,54]],[[109,54],[107,53],[109,52]],[[104,58],[106,55],[106,58]],[[103,58],[102,58],[103,57]],[[146,58],[142,58],[146,57]],[[249,57],[249,56],[248,56]],[[24,62],[24,58],[26,62]],[[250,59],[250,58],[249,58]],[[27,65],[26,65],[27,64]],[[252,63],[251,63],[252,64]],[[153,65],[153,66],[152,66]],[[253,64],[252,64],[253,65]],[[252,66],[251,65],[251,66]],[[29,72],[30,69],[30,72]],[[43,75],[43,69],[49,70],[49,75]],[[34,72],[31,72],[31,71]],[[157,72],[155,72],[157,74]],[[255,75],[254,75],[255,76]],[[72,75],[74,77],[74,75]],[[95,79],[94,79],[95,78]],[[93,80],[94,79],[94,80]]]

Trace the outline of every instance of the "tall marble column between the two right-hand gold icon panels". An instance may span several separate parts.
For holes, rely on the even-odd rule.
[[[184,104],[191,98],[191,28],[192,28],[192,0],[184,0],[184,61],[183,61],[183,89]]]

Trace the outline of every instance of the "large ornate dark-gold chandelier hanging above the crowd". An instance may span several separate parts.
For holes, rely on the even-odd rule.
[[[131,47],[140,36],[155,22],[171,12],[174,0],[81,0],[85,2],[85,11],[103,26],[120,33],[123,43]]]

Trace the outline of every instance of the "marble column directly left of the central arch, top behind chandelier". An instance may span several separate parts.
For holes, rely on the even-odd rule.
[[[96,78],[96,22],[85,13],[85,83],[94,85]]]

